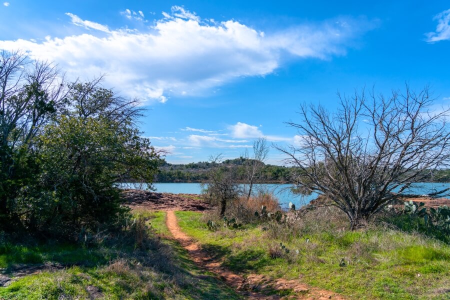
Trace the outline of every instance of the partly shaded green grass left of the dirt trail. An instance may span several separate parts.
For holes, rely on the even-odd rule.
[[[186,251],[168,237],[164,212],[138,211],[151,224],[149,247],[120,243],[0,245],[3,273],[36,263],[67,267],[15,278],[0,287],[0,299],[239,299],[215,276],[198,269]]]

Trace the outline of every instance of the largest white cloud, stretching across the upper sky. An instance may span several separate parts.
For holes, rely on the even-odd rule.
[[[123,12],[127,18],[142,14]],[[106,73],[105,85],[149,102],[209,93],[239,77],[267,75],[287,58],[345,54],[351,41],[368,29],[368,22],[346,18],[261,34],[232,19],[200,19],[181,6],[173,6],[170,14],[164,12],[164,18],[145,31],[110,29],[67,15],[73,24],[101,32],[37,41],[0,40],[0,49],[19,48],[32,58],[54,61],[71,79]]]

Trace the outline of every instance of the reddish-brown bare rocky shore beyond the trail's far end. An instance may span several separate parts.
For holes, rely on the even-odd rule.
[[[197,194],[173,194],[125,189],[122,191],[122,196],[124,204],[131,208],[203,211],[212,207],[211,204],[201,199],[201,195]]]

